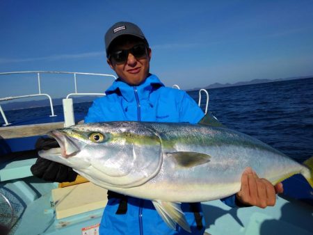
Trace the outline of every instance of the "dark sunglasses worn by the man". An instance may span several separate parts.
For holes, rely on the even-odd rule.
[[[109,55],[109,60],[113,58],[117,64],[123,64],[127,61],[129,53],[135,56],[135,58],[142,58],[147,55],[147,46],[145,44],[137,44],[130,49],[114,51]]]

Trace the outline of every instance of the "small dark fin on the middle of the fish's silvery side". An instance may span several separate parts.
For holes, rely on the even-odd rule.
[[[208,163],[211,159],[211,156],[198,152],[172,152],[168,153],[168,156],[172,156],[181,168],[192,168]]]

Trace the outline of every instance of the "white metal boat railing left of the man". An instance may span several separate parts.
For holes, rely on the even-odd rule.
[[[51,115],[50,117],[54,117],[56,116],[54,114],[54,106],[53,106],[53,102],[51,99],[51,96],[45,93],[41,92],[41,75],[42,74],[73,74],[74,76],[74,93],[70,93],[67,95],[66,99],[69,99],[70,96],[74,96],[74,95],[105,95],[104,93],[93,93],[93,92],[88,92],[88,93],[79,93],[78,89],[77,89],[77,75],[81,74],[81,75],[93,75],[93,76],[111,76],[113,77],[113,79],[117,79],[116,76],[112,75],[112,74],[95,74],[95,73],[88,73],[88,72],[56,72],[56,71],[22,71],[22,72],[1,72],[0,75],[10,75],[10,74],[37,74],[37,79],[38,79],[38,93],[37,94],[31,94],[31,95],[20,95],[20,96],[15,96],[15,97],[3,97],[0,98],[0,102],[3,101],[9,101],[12,99],[23,99],[23,98],[28,98],[28,97],[40,97],[40,96],[44,96],[47,97],[49,99],[49,103],[50,103],[50,108],[51,108]],[[10,123],[8,122],[6,115],[3,111],[3,109],[1,108],[0,105],[0,113],[1,116],[5,122],[5,124],[3,124],[3,126],[8,126]]]

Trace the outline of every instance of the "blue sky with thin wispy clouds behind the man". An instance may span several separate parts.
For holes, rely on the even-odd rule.
[[[150,72],[166,86],[312,76],[312,12],[312,0],[0,0],[0,72],[114,74],[104,33],[127,21],[145,33]],[[42,92],[63,97],[72,80],[45,76]],[[104,92],[111,82],[81,76],[79,92]],[[0,98],[35,92],[36,84],[36,76],[0,76]]]

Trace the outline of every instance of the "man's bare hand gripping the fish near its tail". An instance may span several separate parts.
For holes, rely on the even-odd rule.
[[[282,193],[282,183],[275,186],[267,179],[260,179],[251,169],[246,168],[241,177],[241,191],[236,194],[236,201],[241,205],[274,206],[276,202],[276,193]]]

